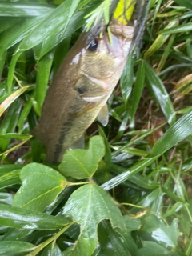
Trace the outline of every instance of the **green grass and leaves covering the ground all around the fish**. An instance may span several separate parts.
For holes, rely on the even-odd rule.
[[[0,255],[192,255],[190,0],[150,2],[86,150],[47,166],[30,135],[85,16],[109,2],[0,1]]]

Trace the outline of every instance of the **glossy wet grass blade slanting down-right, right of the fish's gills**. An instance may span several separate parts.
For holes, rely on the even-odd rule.
[[[145,62],[146,66],[146,85],[150,90],[152,96],[159,106],[162,109],[163,114],[165,115],[167,121],[170,124],[175,122],[175,112],[170,96],[166,91],[165,86],[162,83],[162,80],[158,78],[158,75],[155,74],[153,68]]]

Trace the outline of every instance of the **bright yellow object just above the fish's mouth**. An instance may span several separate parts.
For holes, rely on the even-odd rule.
[[[136,0],[120,0],[114,10],[114,19],[117,19],[123,25],[127,25],[127,21],[133,15],[135,3]]]

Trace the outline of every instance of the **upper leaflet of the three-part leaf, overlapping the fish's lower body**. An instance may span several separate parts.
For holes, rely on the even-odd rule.
[[[67,151],[58,169],[65,176],[77,179],[90,178],[98,169],[98,162],[104,155],[103,138],[94,136],[90,138],[88,150]]]

